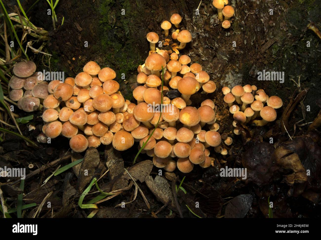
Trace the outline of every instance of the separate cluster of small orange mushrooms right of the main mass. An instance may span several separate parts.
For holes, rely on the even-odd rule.
[[[282,107],[282,99],[278,96],[269,97],[263,89],[258,89],[255,85],[236,85],[232,89],[223,87],[224,102],[233,114],[234,133],[240,134],[237,124],[250,123],[252,126],[265,126],[268,122],[276,119],[275,109]],[[236,102],[236,103],[235,103]],[[267,106],[265,106],[265,104]],[[261,117],[262,119],[256,119]]]

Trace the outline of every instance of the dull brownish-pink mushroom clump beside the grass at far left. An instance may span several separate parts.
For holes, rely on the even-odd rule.
[[[48,83],[39,79],[33,61],[21,61],[14,65],[13,74],[9,81],[9,98],[18,102],[19,109],[32,112],[42,107],[41,103],[47,97]]]

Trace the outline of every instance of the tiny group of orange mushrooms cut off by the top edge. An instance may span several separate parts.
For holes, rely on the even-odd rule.
[[[213,0],[213,6],[217,8],[218,19],[222,22],[222,27],[225,29],[230,28],[230,18],[234,15],[234,8],[227,4],[229,4],[228,0]]]

